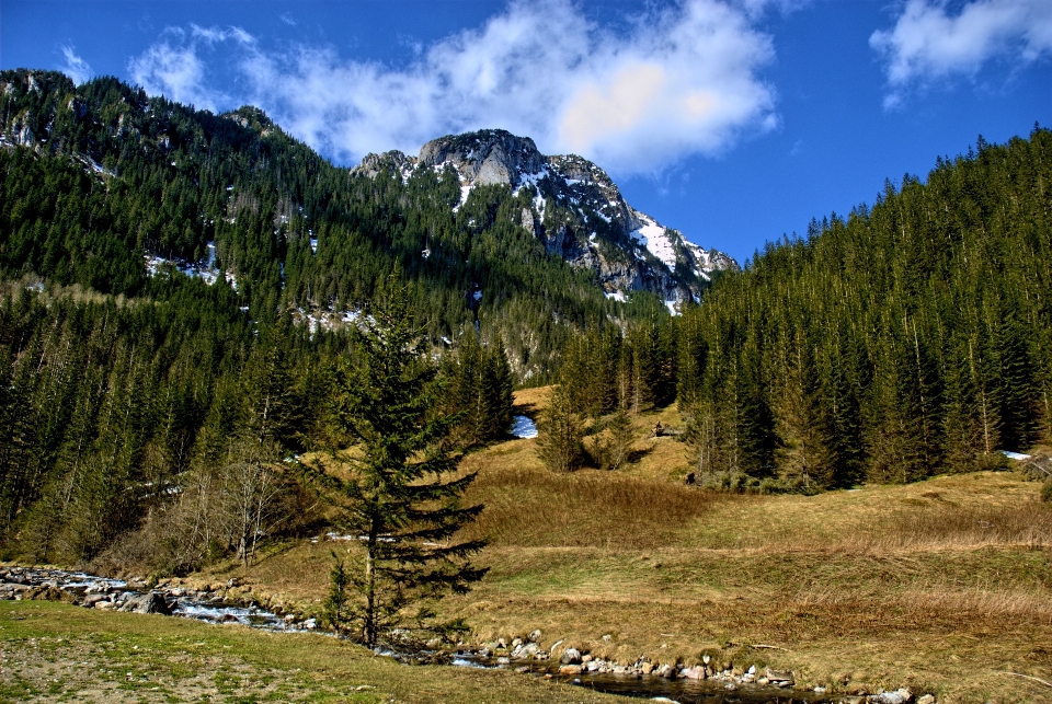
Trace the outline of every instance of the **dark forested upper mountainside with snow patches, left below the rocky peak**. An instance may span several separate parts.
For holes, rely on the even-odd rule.
[[[477,325],[502,336],[521,379],[558,366],[571,331],[662,305],[607,300],[521,224],[533,192],[473,188],[454,170],[403,182],[333,166],[263,113],[216,116],[112,78],[0,74],[0,272],[136,296],[147,255],[222,274],[251,318],[328,326],[358,311],[398,263],[436,345]],[[23,147],[14,148],[14,145]],[[27,149],[26,149],[27,148]]]

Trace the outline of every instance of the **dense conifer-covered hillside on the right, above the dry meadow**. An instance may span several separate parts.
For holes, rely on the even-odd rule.
[[[554,400],[601,418],[675,393],[697,478],[714,486],[997,466],[1050,439],[1050,290],[1052,132],[1036,127],[769,243],[682,318],[590,331]]]

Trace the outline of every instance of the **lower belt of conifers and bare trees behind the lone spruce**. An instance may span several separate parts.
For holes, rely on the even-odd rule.
[[[310,527],[296,458],[346,441],[331,418],[353,335],[310,334],[288,315],[261,324],[228,286],[181,275],[145,292],[4,285],[3,554],[185,570],[250,562],[261,538]],[[466,344],[441,379],[456,390],[441,415],[464,440],[508,432],[500,347]]]

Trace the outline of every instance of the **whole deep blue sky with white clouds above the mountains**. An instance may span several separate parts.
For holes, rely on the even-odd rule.
[[[739,261],[1052,126],[1048,0],[0,0],[0,68],[260,105],[333,162],[502,127]]]

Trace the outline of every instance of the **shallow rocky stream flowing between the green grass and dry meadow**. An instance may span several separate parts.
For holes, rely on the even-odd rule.
[[[235,580],[226,588],[237,586]],[[119,580],[99,577],[82,572],[67,572],[36,567],[0,566],[0,599],[49,599],[67,601],[85,608],[193,619],[211,624],[238,623],[272,632],[305,633],[318,631],[313,619],[300,619],[294,614],[281,614],[259,605],[230,603],[225,599],[222,587],[215,590],[192,590],[159,586],[150,589],[141,580]],[[323,633],[323,632],[322,632]],[[422,654],[384,655],[398,659],[419,659]],[[409,657],[407,657],[409,655]],[[434,654],[424,654],[435,659]],[[609,694],[636,699],[650,699],[679,704],[833,704],[822,693],[794,689],[779,689],[755,683],[734,683],[724,680],[667,679],[656,674],[611,674],[582,671],[579,674],[560,674],[559,663],[552,660],[518,660],[483,657],[469,649],[451,655],[455,667],[485,669],[515,669],[524,677],[546,677],[567,684],[593,689]],[[448,660],[447,660],[448,661]],[[859,697],[858,701],[883,702],[879,696]]]

